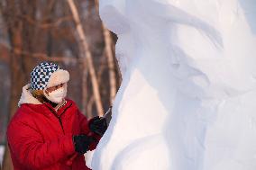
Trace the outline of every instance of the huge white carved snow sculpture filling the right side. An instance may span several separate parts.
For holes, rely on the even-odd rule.
[[[256,1],[100,0],[123,83],[94,170],[256,169]]]

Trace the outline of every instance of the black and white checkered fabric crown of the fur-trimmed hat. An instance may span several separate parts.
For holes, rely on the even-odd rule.
[[[42,62],[37,67],[33,68],[31,73],[32,90],[44,90],[50,76],[60,67],[54,63]]]

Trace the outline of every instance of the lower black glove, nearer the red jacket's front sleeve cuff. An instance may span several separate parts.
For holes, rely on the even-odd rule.
[[[73,144],[75,146],[76,152],[83,155],[89,149],[89,145],[95,140],[92,137],[88,137],[87,135],[76,135],[73,136]]]

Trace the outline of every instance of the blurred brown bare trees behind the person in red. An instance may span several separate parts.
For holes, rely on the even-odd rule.
[[[114,100],[121,76],[115,35],[93,0],[0,0],[0,144],[32,68],[51,61],[69,70],[69,98],[88,118]],[[5,147],[6,148],[6,147]],[[13,169],[5,149],[4,169]]]

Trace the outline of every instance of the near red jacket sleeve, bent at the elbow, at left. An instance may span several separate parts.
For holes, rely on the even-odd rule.
[[[43,141],[41,133],[24,122],[10,123],[7,140],[14,157],[28,169],[51,166],[75,153],[71,134]]]

